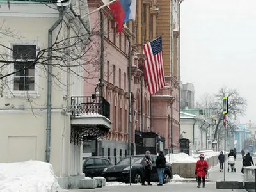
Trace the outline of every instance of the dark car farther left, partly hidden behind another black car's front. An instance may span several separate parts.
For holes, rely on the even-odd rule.
[[[85,177],[99,177],[102,176],[104,168],[113,166],[109,159],[102,157],[88,157],[83,163],[83,173]]]

